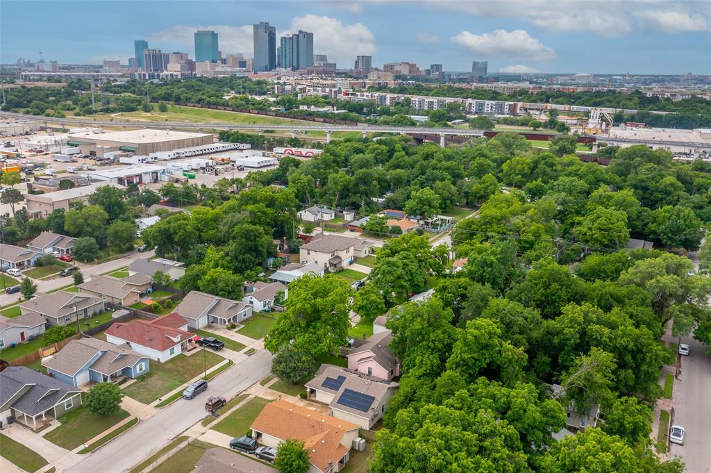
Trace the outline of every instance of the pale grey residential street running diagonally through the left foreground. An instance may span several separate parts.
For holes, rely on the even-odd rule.
[[[210,381],[206,393],[194,400],[177,400],[66,472],[122,473],[131,469],[164,447],[173,437],[205,418],[205,399],[210,395],[232,398],[267,376],[271,366],[272,355],[266,350],[257,351]]]

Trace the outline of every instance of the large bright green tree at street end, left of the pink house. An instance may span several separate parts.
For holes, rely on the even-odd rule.
[[[311,358],[335,355],[346,344],[351,326],[351,292],[348,282],[335,275],[299,277],[289,285],[287,309],[279,313],[264,339],[264,347],[276,353],[293,343],[294,348]]]

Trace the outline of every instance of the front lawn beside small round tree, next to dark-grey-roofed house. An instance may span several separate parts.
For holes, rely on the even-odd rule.
[[[128,416],[129,413],[120,409],[117,413],[105,418],[94,415],[81,406],[60,417],[59,421],[62,425],[45,435],[45,438],[55,445],[73,450]]]

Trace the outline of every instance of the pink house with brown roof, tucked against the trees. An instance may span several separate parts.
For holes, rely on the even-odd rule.
[[[348,354],[348,369],[390,381],[400,376],[400,362],[387,348],[392,339],[390,330],[382,331]]]

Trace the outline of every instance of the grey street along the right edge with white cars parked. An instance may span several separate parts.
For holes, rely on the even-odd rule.
[[[681,357],[681,376],[675,381],[674,423],[686,430],[684,445],[671,444],[671,457],[680,456],[686,473],[711,473],[711,357],[708,348],[692,337]]]

